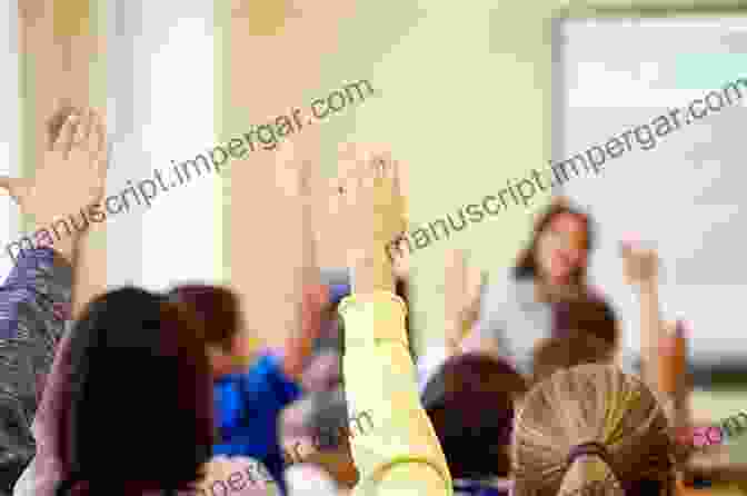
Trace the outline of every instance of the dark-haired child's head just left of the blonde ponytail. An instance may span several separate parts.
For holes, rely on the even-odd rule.
[[[525,388],[509,365],[478,354],[448,359],[428,381],[422,404],[455,478],[508,475],[514,400]]]

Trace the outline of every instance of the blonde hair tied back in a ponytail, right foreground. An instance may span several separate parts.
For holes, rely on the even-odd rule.
[[[596,448],[569,456],[587,444]],[[660,495],[674,489],[664,411],[640,379],[612,365],[559,370],[532,388],[512,452],[516,496],[622,495],[650,480],[660,483]]]

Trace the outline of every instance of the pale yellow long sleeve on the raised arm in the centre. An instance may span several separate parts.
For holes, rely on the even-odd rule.
[[[438,437],[420,405],[405,328],[407,306],[394,294],[342,300],[343,377],[352,415],[374,426],[350,436],[360,474],[356,496],[451,496],[451,476]],[[355,434],[355,433],[353,433]]]

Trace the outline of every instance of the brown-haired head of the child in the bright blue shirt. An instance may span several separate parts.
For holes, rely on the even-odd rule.
[[[195,284],[177,286],[169,297],[192,307],[201,319],[213,376],[230,374],[251,358],[252,343],[241,331],[240,304],[233,291]]]

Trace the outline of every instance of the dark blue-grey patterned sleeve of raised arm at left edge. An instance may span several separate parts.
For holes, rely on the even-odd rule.
[[[0,495],[34,455],[31,421],[69,314],[72,267],[27,250],[0,287]]]

